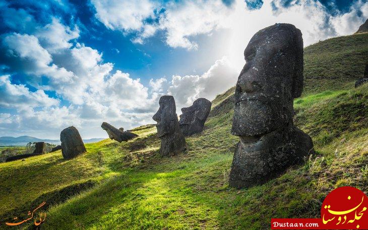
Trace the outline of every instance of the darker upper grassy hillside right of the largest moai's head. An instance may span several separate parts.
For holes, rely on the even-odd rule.
[[[368,33],[320,41],[304,48],[303,95],[349,89],[368,64]]]

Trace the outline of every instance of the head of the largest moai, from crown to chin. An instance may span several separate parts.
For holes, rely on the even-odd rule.
[[[291,24],[257,32],[244,50],[235,89],[231,133],[255,136],[292,124],[293,99],[303,88],[303,40]]]

